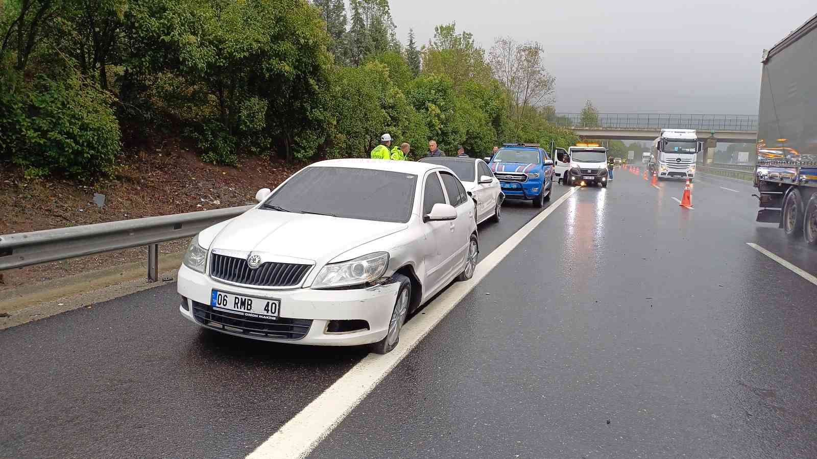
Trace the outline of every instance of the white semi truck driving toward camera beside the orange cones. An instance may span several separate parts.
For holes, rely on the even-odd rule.
[[[650,174],[658,174],[659,180],[692,181],[702,146],[694,129],[662,129],[661,135],[653,140]]]

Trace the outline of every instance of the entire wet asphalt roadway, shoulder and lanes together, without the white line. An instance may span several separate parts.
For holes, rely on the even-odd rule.
[[[748,184],[659,186],[578,189],[311,457],[817,457],[817,287],[746,242],[815,251]],[[0,331],[0,456],[241,457],[364,356],[200,331],[175,288]]]

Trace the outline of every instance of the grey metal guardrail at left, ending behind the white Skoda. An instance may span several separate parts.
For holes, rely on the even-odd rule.
[[[239,216],[251,207],[227,207],[54,230],[2,234],[0,270],[149,246],[148,281],[155,282],[158,280],[158,243],[193,236],[208,226]]]

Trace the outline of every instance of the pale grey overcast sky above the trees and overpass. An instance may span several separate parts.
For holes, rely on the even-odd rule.
[[[426,43],[452,21],[487,50],[542,43],[556,110],[754,114],[761,53],[817,12],[815,0],[391,0],[398,37]]]

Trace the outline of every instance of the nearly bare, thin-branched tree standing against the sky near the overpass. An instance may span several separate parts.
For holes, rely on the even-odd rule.
[[[506,90],[508,115],[516,123],[554,102],[556,78],[544,68],[543,54],[538,42],[518,43],[510,37],[498,38],[489,53],[493,75]]]

